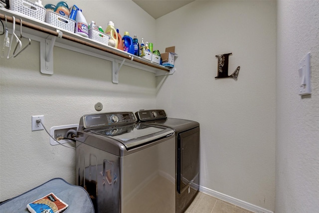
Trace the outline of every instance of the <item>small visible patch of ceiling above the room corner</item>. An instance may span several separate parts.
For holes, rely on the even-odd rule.
[[[194,0],[133,0],[155,19]]]

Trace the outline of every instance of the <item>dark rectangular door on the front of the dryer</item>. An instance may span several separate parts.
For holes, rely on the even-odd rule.
[[[177,192],[199,188],[199,127],[178,134]]]

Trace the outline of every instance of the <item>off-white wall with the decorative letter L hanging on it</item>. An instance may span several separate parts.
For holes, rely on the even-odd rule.
[[[194,1],[157,19],[157,41],[178,54],[157,107],[200,123],[200,186],[274,211],[276,1]],[[238,80],[215,79],[230,52]]]

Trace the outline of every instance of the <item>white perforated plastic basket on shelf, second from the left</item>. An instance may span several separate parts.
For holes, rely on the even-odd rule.
[[[75,29],[75,20],[50,10],[46,10],[45,22],[70,32]]]

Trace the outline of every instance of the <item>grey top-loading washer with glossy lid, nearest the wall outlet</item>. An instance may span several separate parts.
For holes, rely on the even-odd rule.
[[[175,213],[175,133],[133,112],[81,117],[76,184],[96,213]]]

